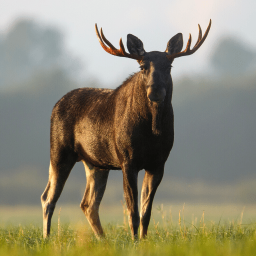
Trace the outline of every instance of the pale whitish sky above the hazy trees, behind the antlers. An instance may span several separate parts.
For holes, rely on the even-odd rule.
[[[209,34],[196,53],[173,61],[174,79],[212,74],[209,58],[223,36],[234,36],[255,49],[255,10],[254,0],[2,0],[0,31],[6,33],[18,18],[56,27],[64,34],[67,51],[83,63],[78,79],[91,78],[102,86],[115,87],[139,70],[138,63],[106,53],[95,35],[95,23],[115,47],[120,37],[126,47],[126,35],[132,33],[142,40],[146,51],[164,51],[178,32],[183,34],[184,46],[189,32],[195,43],[197,23],[204,33],[211,18]]]

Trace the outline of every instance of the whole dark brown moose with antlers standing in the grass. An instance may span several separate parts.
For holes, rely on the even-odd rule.
[[[136,59],[140,70],[115,89],[77,88],[54,105],[50,118],[49,179],[41,195],[43,236],[50,233],[51,217],[65,181],[78,161],[86,173],[86,188],[80,207],[97,238],[104,235],[98,209],[109,170],[122,170],[123,191],[132,239],[147,235],[152,202],[162,179],[165,161],[173,145],[171,63],[194,53],[205,40],[211,20],[192,49],[191,34],[182,50],[182,33],[174,35],[166,50],[146,52],[142,41],[127,35],[127,53],[120,38],[116,49],[100,33],[103,49],[115,56]],[[107,44],[107,45],[106,45]],[[137,175],[145,170],[140,213]]]

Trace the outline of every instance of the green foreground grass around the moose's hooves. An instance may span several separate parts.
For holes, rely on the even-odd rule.
[[[120,221],[104,221],[105,238],[97,240],[85,221],[65,222],[62,209],[60,214],[56,210],[47,239],[42,238],[41,225],[1,223],[0,256],[256,255],[256,221],[244,219],[246,209],[242,208],[236,218],[224,219],[221,214],[216,221],[208,220],[206,212],[188,216],[185,205],[173,213],[157,206],[147,238],[132,241],[126,214]]]

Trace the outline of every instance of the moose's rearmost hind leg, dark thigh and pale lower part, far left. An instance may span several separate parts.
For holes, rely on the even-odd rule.
[[[62,164],[61,168],[56,165],[49,166],[49,180],[45,190],[41,195],[42,216],[43,216],[43,237],[50,233],[51,217],[55,208],[55,204],[62,192],[65,181],[74,165],[73,163]]]

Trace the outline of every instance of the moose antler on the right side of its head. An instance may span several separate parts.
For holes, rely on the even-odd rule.
[[[188,38],[188,41],[187,41],[187,44],[186,44],[186,48],[183,51],[176,52],[176,53],[173,53],[171,55],[167,55],[167,58],[168,59],[173,59],[173,58],[177,58],[177,57],[193,54],[202,45],[202,43],[204,42],[204,40],[205,40],[209,30],[210,30],[210,24],[211,24],[211,19],[209,21],[209,24],[207,26],[207,29],[206,29],[203,37],[202,37],[201,27],[198,24],[198,29],[199,29],[198,39],[197,39],[197,41],[196,41],[196,43],[195,43],[195,45],[194,45],[194,47],[192,49],[190,49],[191,34],[189,33],[189,38]]]

